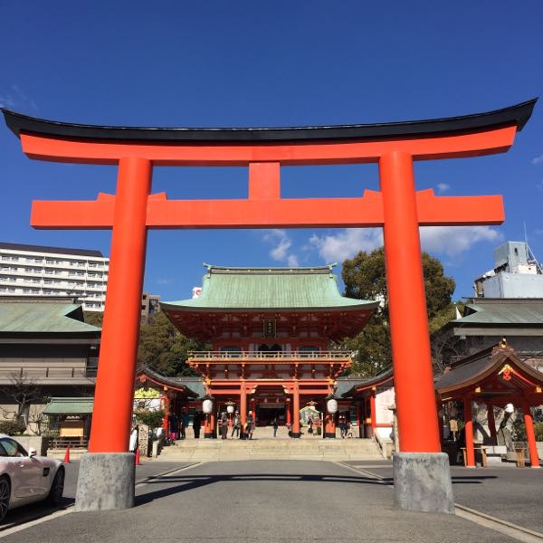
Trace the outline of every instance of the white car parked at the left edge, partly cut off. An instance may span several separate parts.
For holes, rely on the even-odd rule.
[[[47,500],[58,505],[64,491],[62,462],[26,452],[13,437],[0,433],[0,522],[8,510]]]

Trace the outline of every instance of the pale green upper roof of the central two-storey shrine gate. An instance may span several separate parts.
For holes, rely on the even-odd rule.
[[[207,265],[202,294],[162,303],[164,310],[374,309],[378,302],[341,296],[332,265],[317,268],[224,268]]]

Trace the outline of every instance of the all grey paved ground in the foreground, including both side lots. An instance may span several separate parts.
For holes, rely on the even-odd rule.
[[[145,462],[137,468],[137,507],[90,513],[71,512],[77,469],[77,462],[67,466],[65,511],[47,517],[43,506],[14,510],[0,538],[10,543],[133,542],[144,537],[195,543],[515,540],[459,516],[395,509],[386,461]],[[458,503],[543,529],[542,472],[452,468],[452,478]],[[41,519],[32,525],[27,522],[32,517]],[[22,524],[10,528],[17,523]]]

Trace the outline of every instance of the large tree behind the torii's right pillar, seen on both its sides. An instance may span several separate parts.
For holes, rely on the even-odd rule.
[[[444,322],[454,318],[454,304],[451,301],[455,288],[454,280],[443,273],[439,260],[423,252],[424,288],[430,333],[441,328]],[[390,365],[392,350],[386,291],[385,249],[358,254],[343,262],[342,271],[345,294],[349,298],[377,300],[379,308],[369,320],[365,329],[355,338],[346,338],[344,347],[357,352],[351,368],[354,373],[374,376]]]

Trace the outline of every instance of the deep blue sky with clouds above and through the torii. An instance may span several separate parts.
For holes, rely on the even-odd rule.
[[[541,95],[543,3],[93,2],[3,5],[0,104],[43,119],[136,126],[301,126],[431,119]],[[418,189],[501,194],[500,227],[426,229],[426,250],[472,294],[492,249],[524,239],[543,260],[543,105],[510,152],[416,163]],[[110,232],[36,231],[33,199],[114,192],[115,167],[29,160],[0,126],[0,240],[100,249]],[[281,194],[360,195],[375,165],[285,167]],[[247,195],[244,168],[155,168],[170,198]],[[380,245],[375,230],[152,231],[145,289],[188,298],[202,262],[341,262]],[[339,272],[339,270],[338,270]]]

